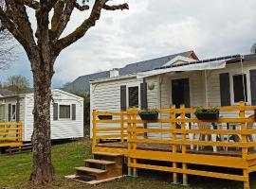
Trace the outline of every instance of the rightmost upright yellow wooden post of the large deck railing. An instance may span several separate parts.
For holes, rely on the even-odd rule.
[[[240,108],[242,108],[242,110],[240,109],[239,111],[239,117],[240,118],[246,118],[246,111],[245,111],[245,106],[246,103],[245,102],[240,102],[239,103]],[[245,122],[241,123],[241,130],[247,130],[247,124]],[[247,135],[242,134],[242,142],[243,143],[247,143]],[[247,159],[247,154],[248,154],[248,148],[247,146],[242,147],[242,157],[243,159]],[[248,189],[249,188],[249,176],[248,176],[248,167],[246,167],[243,170],[243,175],[244,175],[244,188]]]

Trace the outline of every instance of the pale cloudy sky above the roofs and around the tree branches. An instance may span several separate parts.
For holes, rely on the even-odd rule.
[[[114,0],[110,4],[124,2],[129,10],[103,10],[96,26],[64,49],[54,66],[53,88],[83,75],[188,50],[199,59],[249,54],[256,43],[255,0]],[[64,35],[88,13],[74,11]],[[28,14],[35,26],[32,10]],[[18,51],[18,60],[0,71],[1,82],[22,75],[32,83],[27,55],[21,47]]]

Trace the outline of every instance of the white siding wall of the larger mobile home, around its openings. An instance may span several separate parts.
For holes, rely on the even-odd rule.
[[[256,69],[255,63],[244,63],[243,72],[247,74],[247,97],[250,104],[250,79],[249,70]],[[241,74],[241,65],[228,64],[227,68],[207,71],[207,96],[210,106],[220,106],[220,81],[219,74],[229,72],[230,90],[232,90],[232,75]],[[172,102],[172,79],[189,78],[191,106],[206,106],[206,79],[205,71],[192,71],[175,74],[165,74],[161,76],[147,77],[146,82],[154,84],[153,90],[147,90],[148,107],[156,109],[166,109],[173,105]],[[104,112],[119,112],[120,110],[120,85],[139,85],[142,82],[137,78],[121,79],[104,83],[91,84],[91,112],[93,110]],[[233,99],[232,93],[231,100]],[[234,105],[234,103],[232,103]],[[249,113],[249,112],[248,112]],[[226,113],[228,115],[228,113]],[[229,115],[233,116],[233,112]],[[170,114],[162,114],[161,118],[168,118]],[[92,120],[92,119],[91,119]],[[110,125],[107,125],[108,127]],[[114,125],[112,125],[114,126]],[[148,128],[170,128],[170,124],[148,124]],[[92,129],[92,125],[91,125]],[[150,138],[169,138],[170,134],[149,133]]]

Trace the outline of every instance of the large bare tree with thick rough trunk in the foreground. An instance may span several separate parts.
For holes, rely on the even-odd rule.
[[[85,0],[5,0],[6,9],[0,8],[0,20],[5,28],[24,47],[33,72],[34,129],[32,134],[33,166],[30,180],[44,184],[53,180],[50,146],[51,79],[54,62],[62,50],[81,39],[89,28],[96,25],[101,11],[129,9],[128,4],[107,5],[109,0],[94,0],[89,16],[66,36],[63,36],[74,9],[89,10]],[[27,8],[35,10],[37,21],[33,32]],[[50,16],[52,15],[52,16]]]

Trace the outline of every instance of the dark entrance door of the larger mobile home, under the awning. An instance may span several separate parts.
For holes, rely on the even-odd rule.
[[[186,108],[191,106],[189,78],[172,80],[172,100],[176,108],[180,108],[182,104],[184,104]]]

